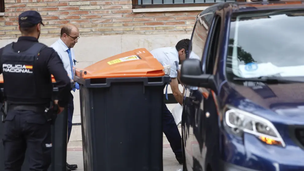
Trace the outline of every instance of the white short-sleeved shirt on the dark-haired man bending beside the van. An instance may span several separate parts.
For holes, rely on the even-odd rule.
[[[179,58],[178,52],[175,47],[162,47],[151,50],[150,53],[153,55],[154,58],[158,60],[162,64],[162,66],[170,65],[170,78],[177,77],[177,70],[179,70]]]

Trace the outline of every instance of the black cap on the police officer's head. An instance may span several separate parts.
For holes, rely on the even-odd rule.
[[[19,26],[22,28],[32,27],[38,23],[44,26],[41,15],[37,11],[29,10],[19,15]]]

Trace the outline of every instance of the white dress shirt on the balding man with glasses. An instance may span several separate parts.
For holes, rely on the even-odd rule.
[[[72,80],[72,69],[71,69],[71,63],[70,63],[70,57],[68,56],[68,46],[64,44],[64,42],[59,38],[53,45],[52,47],[59,55],[59,57],[62,60],[64,69],[67,71],[69,78]],[[75,59],[75,53],[73,48],[71,48],[71,56],[72,56],[72,63],[73,66],[75,66],[74,59]],[[73,67],[72,66],[72,67]]]

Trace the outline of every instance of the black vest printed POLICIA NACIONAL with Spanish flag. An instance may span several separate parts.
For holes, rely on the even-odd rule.
[[[13,43],[4,47],[1,65],[4,80],[4,95],[11,104],[40,104],[41,95],[38,93],[35,78],[34,62],[40,51],[46,47],[35,43],[24,52],[15,52]]]

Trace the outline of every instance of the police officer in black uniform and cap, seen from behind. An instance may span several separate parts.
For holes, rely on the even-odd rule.
[[[51,74],[59,89],[56,112],[68,104],[70,79],[57,52],[38,42],[41,25],[37,11],[23,12],[19,15],[22,36],[0,49],[4,101],[8,104],[3,138],[5,171],[21,170],[25,150],[29,170],[47,171],[51,164],[51,122],[45,113],[52,101]]]

